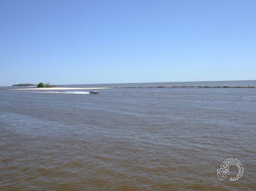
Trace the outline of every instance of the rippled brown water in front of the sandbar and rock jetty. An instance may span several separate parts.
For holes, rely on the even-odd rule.
[[[0,190],[256,188],[256,88],[7,89]]]

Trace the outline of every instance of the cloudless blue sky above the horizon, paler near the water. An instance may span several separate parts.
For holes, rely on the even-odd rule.
[[[0,0],[0,85],[256,80],[256,0]]]

